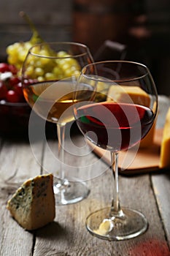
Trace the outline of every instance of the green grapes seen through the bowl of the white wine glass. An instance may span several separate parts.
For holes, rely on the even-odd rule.
[[[72,75],[80,75],[80,64],[66,51],[60,50],[55,53],[48,45],[36,45],[34,53],[29,55],[26,61],[25,75],[28,78],[43,80],[61,80]],[[56,58],[39,58],[39,56],[55,56]],[[30,65],[31,64],[31,65]]]

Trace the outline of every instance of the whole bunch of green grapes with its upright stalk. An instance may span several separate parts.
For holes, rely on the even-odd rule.
[[[23,61],[26,59],[28,50],[41,42],[44,42],[42,37],[39,36],[39,32],[36,30],[34,23],[30,20],[28,15],[25,12],[20,12],[20,15],[26,19],[28,24],[31,27],[31,31],[33,31],[32,37],[27,42],[15,42],[12,45],[7,46],[7,61],[9,64],[15,65],[18,69],[18,76],[21,75],[21,69],[23,67]],[[40,48],[37,46],[36,48],[39,55],[49,56],[50,54],[53,55],[54,52],[52,49]],[[59,51],[55,53],[58,59],[41,59],[39,58],[29,61],[34,61],[34,63],[28,67],[26,71],[26,75],[31,78],[35,78],[36,80],[42,81],[46,80],[53,80],[53,79],[62,79],[67,78],[71,75],[79,75],[80,74],[80,65],[77,61],[66,51]]]

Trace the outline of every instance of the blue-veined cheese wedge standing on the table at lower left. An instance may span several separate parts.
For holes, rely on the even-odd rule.
[[[15,192],[7,203],[12,217],[26,230],[43,227],[55,218],[53,175],[36,176]]]

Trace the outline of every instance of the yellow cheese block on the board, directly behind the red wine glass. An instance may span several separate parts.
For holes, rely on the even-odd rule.
[[[108,92],[108,101],[125,102],[150,106],[150,96],[138,86],[111,86]],[[156,123],[156,121],[155,121]],[[147,148],[153,142],[155,133],[155,123],[152,125],[150,132],[140,142],[140,148]]]

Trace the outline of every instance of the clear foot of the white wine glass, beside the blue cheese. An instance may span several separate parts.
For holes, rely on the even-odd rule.
[[[78,203],[88,197],[90,189],[83,181],[67,181],[54,183],[55,205],[63,206]]]

